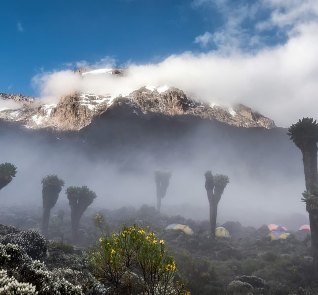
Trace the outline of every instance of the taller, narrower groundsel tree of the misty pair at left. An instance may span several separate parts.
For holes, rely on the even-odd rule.
[[[50,174],[41,181],[42,184],[42,201],[43,201],[43,228],[42,232],[44,236],[47,235],[50,212],[51,209],[55,206],[59,193],[64,186],[64,181],[59,178],[56,174]]]

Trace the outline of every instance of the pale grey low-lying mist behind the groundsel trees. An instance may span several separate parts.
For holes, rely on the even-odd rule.
[[[234,133],[239,130],[227,128]],[[206,129],[199,128],[171,147],[158,145],[151,151],[129,146],[93,148],[76,135],[58,139],[53,133],[35,136],[30,130],[3,132],[0,162],[14,163],[18,172],[0,191],[0,205],[41,206],[41,179],[57,174],[66,183],[58,204],[68,206],[66,187],[87,185],[98,196],[91,207],[155,206],[153,171],[169,169],[172,177],[162,213],[207,220],[204,173],[212,170],[230,178],[218,206],[217,222],[239,221],[257,227],[281,221],[286,226],[301,226],[289,222],[295,214],[307,217],[300,200],[304,190],[301,152],[288,141],[286,131],[243,130],[241,139],[224,130],[213,132],[206,134]],[[251,137],[245,138],[250,132]]]

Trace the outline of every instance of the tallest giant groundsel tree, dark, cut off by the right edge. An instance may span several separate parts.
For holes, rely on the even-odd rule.
[[[303,118],[291,125],[287,134],[303,154],[306,191],[303,193],[302,200],[306,202],[306,210],[309,214],[314,272],[318,277],[318,124],[313,118]]]

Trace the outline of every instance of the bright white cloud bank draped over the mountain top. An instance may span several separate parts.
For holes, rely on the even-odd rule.
[[[196,2],[197,5],[217,2],[226,12],[227,1]],[[232,40],[230,50],[225,50],[226,38],[235,37],[231,24],[240,27],[244,21],[235,19],[236,14],[232,14],[229,16],[234,19],[232,22],[229,19],[220,31],[209,35],[209,40],[215,39],[215,34],[225,38],[210,51],[171,55],[156,64],[130,63],[124,76],[81,76],[70,70],[69,65],[69,69],[63,71],[40,73],[32,81],[41,98],[55,102],[75,91],[124,96],[144,85],[173,86],[196,100],[227,107],[245,104],[274,119],[278,126],[286,127],[303,116],[316,117],[318,108],[318,4],[297,0],[288,3],[264,0],[262,4],[271,8],[271,13],[266,21],[255,25],[259,32],[278,28],[276,34],[286,35],[283,44],[242,50],[242,44]],[[257,7],[252,8],[246,8],[246,17],[251,18],[251,11]],[[256,35],[246,38],[257,41]],[[108,68],[115,66],[115,60],[105,57],[93,64],[81,61],[75,65]]]

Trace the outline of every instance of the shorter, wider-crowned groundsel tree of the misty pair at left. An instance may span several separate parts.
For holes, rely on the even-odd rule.
[[[71,206],[71,231],[73,242],[78,240],[79,221],[89,205],[97,197],[96,193],[87,186],[69,186],[66,189],[66,194]]]

